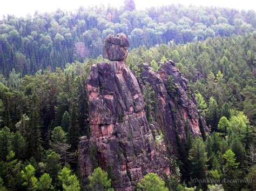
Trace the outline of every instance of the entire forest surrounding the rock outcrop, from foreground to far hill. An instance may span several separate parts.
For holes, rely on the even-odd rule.
[[[256,12],[170,5],[144,11],[57,10],[0,21],[0,190],[112,190],[99,167],[79,181],[79,137],[90,135],[86,78],[103,40],[124,32],[126,64],[173,60],[211,132],[172,156],[176,174],[147,174],[138,190],[255,189]],[[106,60],[105,60],[106,61]],[[171,87],[171,83],[170,83]],[[175,88],[172,91],[176,91]],[[153,107],[153,101],[149,101]],[[185,161],[185,162],[184,162]],[[220,180],[195,182],[193,179]],[[252,180],[228,182],[226,180]],[[149,187],[149,182],[156,182]]]

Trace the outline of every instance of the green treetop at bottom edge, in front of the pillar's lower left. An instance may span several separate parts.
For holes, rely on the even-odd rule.
[[[93,170],[92,175],[88,176],[90,190],[113,190],[111,179],[107,178],[107,173],[100,167]]]

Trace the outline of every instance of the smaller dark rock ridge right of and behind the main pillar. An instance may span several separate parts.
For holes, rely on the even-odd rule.
[[[196,106],[196,99],[188,81],[181,75],[175,64],[168,60],[165,63],[159,63],[159,70],[153,71],[149,65],[142,67],[142,85],[149,82],[158,101],[157,116],[158,119],[153,124],[155,128],[160,128],[165,136],[166,146],[170,153],[177,152],[177,136],[185,141],[186,128],[193,136],[201,136],[201,131],[206,127],[200,122],[199,111]],[[176,93],[170,96],[167,93],[168,77],[173,77]],[[202,127],[203,126],[203,127]],[[207,129],[206,129],[207,131]]]

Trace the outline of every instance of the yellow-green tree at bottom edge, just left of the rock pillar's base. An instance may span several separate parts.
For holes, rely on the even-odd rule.
[[[80,190],[80,184],[75,174],[71,174],[71,170],[64,167],[58,173],[58,179],[62,183],[62,188],[65,191]]]

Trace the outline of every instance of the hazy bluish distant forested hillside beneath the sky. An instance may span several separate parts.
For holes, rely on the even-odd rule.
[[[204,8],[183,5],[136,10],[132,1],[123,8],[57,10],[34,16],[8,15],[0,21],[0,72],[9,77],[12,69],[35,74],[50,66],[103,54],[103,40],[119,32],[129,36],[131,49],[140,45],[187,43],[207,37],[244,35],[256,28],[255,11]]]

